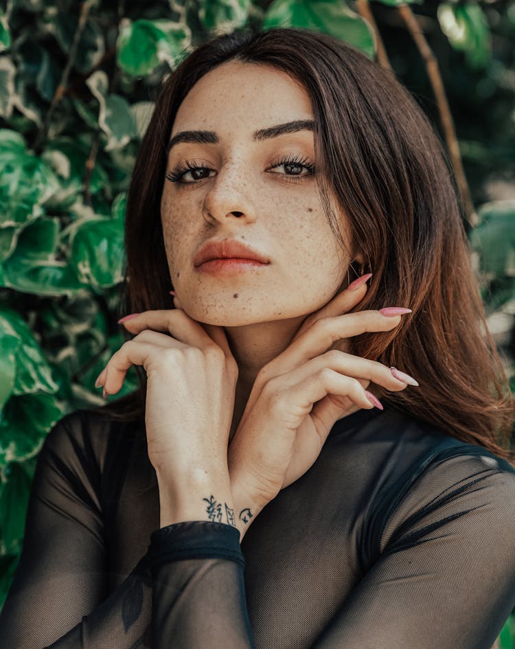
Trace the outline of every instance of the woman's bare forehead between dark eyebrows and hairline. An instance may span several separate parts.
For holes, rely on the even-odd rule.
[[[187,93],[174,121],[179,130],[248,130],[313,119],[309,95],[286,72],[229,61],[205,74]]]

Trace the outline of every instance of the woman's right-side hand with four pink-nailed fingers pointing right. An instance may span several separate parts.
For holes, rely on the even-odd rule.
[[[374,407],[369,383],[391,391],[407,387],[382,363],[330,349],[341,339],[400,323],[401,315],[387,317],[378,310],[348,312],[365,292],[364,286],[347,289],[311,314],[288,348],[256,377],[228,452],[231,486],[242,501],[263,508],[304,475],[336,420],[356,406]]]

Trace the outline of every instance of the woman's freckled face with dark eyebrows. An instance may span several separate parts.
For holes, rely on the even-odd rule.
[[[264,65],[224,63],[187,94],[172,128],[170,141],[187,133],[168,154],[161,223],[172,284],[190,317],[219,326],[299,317],[341,286],[350,259],[312,173],[312,120],[304,88]],[[291,122],[304,124],[266,132]],[[268,263],[196,267],[211,239],[237,240]]]

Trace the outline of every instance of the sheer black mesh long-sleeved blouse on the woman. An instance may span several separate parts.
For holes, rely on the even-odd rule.
[[[1,649],[490,649],[515,470],[385,406],[236,527],[159,527],[143,423],[78,410],[38,457]]]

